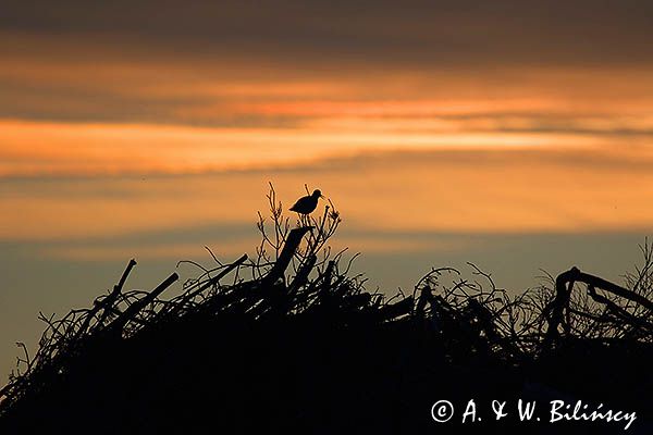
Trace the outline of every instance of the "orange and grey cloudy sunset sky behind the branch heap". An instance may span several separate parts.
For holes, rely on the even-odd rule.
[[[269,182],[320,188],[389,294],[467,261],[619,281],[653,228],[652,40],[632,0],[4,0],[0,374],[130,258],[152,288],[254,254]]]

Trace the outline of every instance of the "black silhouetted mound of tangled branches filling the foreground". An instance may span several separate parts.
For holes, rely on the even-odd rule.
[[[275,262],[250,264],[251,279],[238,277],[244,257],[171,300],[160,296],[176,274],[124,293],[131,262],[91,309],[47,320],[39,352],[2,390],[0,434],[596,434],[621,433],[632,413],[628,433],[653,433],[641,283],[572,269],[510,298],[478,270],[485,288],[445,285],[457,272],[436,270],[414,296],[385,300],[337,259],[309,250],[291,268],[308,231],[293,229]],[[535,402],[531,419],[520,421],[519,399]],[[444,423],[441,400],[454,408]],[[500,421],[494,400],[506,402]],[[555,400],[564,405],[552,414]],[[596,409],[611,419],[567,421]]]

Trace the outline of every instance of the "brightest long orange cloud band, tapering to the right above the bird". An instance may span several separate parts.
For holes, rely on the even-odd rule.
[[[588,147],[583,135],[0,122],[0,176],[272,169],[364,151]],[[572,145],[571,145],[572,144]]]

